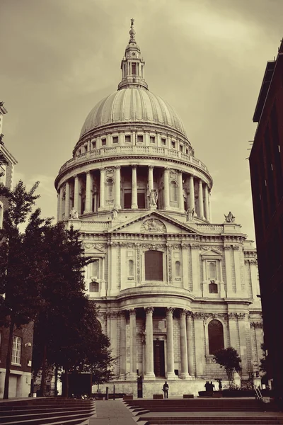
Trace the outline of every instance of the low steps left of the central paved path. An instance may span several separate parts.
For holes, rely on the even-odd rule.
[[[79,425],[96,413],[93,400],[63,397],[0,402],[0,425]]]

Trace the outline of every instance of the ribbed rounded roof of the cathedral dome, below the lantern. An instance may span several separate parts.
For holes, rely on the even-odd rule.
[[[186,137],[182,120],[172,106],[140,86],[127,86],[98,102],[88,114],[80,137],[101,126],[117,123],[165,125]]]

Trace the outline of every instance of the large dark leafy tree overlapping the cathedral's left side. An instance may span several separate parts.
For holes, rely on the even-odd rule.
[[[63,222],[47,227],[39,249],[40,312],[35,320],[33,373],[42,371],[41,395],[45,395],[47,365],[64,368],[68,393],[69,370],[93,358],[108,358],[109,341],[101,332],[96,308],[85,296],[83,267],[91,259],[84,256],[79,232],[67,230]],[[40,359],[40,360],[39,360]]]

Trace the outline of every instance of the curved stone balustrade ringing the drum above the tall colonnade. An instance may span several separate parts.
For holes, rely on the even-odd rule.
[[[99,149],[93,149],[89,152],[78,155],[77,157],[69,159],[65,162],[59,170],[59,174],[62,171],[69,168],[69,166],[74,166],[75,164],[80,164],[87,159],[92,158],[107,158],[107,157],[124,157],[125,155],[150,155],[152,157],[166,157],[166,158],[176,158],[181,159],[188,164],[193,164],[198,166],[200,169],[209,172],[207,166],[204,165],[200,159],[192,157],[191,155],[180,152],[176,149],[168,149],[168,147],[157,147],[157,146],[111,146],[111,147],[100,147]]]

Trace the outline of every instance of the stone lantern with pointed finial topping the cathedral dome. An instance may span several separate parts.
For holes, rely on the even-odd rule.
[[[144,79],[145,62],[141,57],[141,50],[134,38],[135,34],[134,19],[131,19],[129,44],[126,47],[125,56],[121,62],[122,81],[118,86],[118,90],[127,89],[129,87],[143,87],[147,90],[147,84]]]

